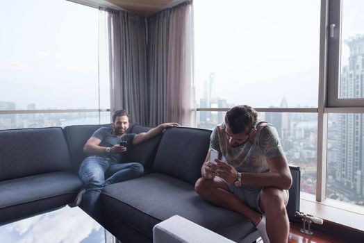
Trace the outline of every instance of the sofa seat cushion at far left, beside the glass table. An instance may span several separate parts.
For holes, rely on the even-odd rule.
[[[0,225],[72,203],[82,187],[77,175],[53,172],[0,182]]]

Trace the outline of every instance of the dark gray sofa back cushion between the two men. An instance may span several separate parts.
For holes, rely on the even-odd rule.
[[[210,142],[210,130],[199,128],[168,128],[160,141],[154,171],[168,174],[192,185],[201,177]]]

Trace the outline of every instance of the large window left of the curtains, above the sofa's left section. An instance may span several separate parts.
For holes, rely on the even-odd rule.
[[[108,81],[99,78],[97,8],[1,1],[0,33],[1,129],[110,122]]]

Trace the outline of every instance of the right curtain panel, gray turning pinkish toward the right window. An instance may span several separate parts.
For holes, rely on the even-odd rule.
[[[192,1],[148,19],[149,125],[195,125]]]

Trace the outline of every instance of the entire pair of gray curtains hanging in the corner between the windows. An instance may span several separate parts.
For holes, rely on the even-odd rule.
[[[192,1],[149,19],[102,10],[108,12],[111,112],[126,109],[133,122],[149,126],[195,125]]]

